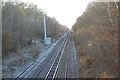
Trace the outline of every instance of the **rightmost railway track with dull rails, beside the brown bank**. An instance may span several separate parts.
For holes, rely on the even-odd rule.
[[[58,67],[57,75],[55,79],[69,79],[75,78],[78,79],[78,67],[76,60],[76,52],[73,44],[73,40],[71,37],[68,39],[68,43],[66,45],[66,49],[64,51],[64,55]]]

